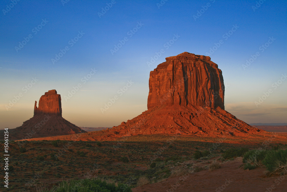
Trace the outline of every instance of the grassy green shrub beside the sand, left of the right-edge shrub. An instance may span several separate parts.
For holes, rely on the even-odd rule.
[[[266,153],[267,151],[258,149],[247,151],[243,156],[243,163],[253,163],[255,166],[261,167]]]

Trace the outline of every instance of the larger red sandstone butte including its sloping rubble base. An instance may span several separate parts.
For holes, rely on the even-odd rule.
[[[166,58],[150,72],[148,110],[98,140],[147,134],[243,136],[265,133],[224,110],[222,72],[209,56],[188,52]]]

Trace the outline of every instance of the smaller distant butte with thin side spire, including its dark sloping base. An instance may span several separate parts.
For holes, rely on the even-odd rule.
[[[49,90],[40,97],[34,106],[34,116],[23,125],[9,130],[12,140],[30,139],[85,133],[86,131],[62,117],[61,95],[56,90]]]

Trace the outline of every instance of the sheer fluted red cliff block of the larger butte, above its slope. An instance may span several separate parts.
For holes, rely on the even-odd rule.
[[[148,109],[188,104],[224,109],[222,72],[209,56],[188,52],[166,58],[150,72]]]

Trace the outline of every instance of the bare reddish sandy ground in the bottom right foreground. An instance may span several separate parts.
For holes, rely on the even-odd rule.
[[[173,191],[242,191],[257,192],[284,191],[287,192],[287,175],[264,176],[265,168],[245,171],[238,168],[242,158],[228,161],[222,167],[212,172],[204,170],[182,177],[168,178],[160,183],[143,185],[133,188],[133,192],[173,192]],[[221,187],[221,188],[219,188]],[[273,187],[273,189],[272,189]],[[224,189],[223,189],[224,188]]]

